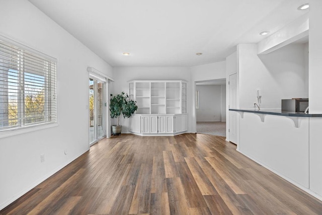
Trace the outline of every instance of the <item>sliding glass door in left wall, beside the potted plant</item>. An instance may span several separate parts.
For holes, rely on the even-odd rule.
[[[90,134],[90,145],[95,144],[99,139],[106,136],[105,128],[105,92],[106,82],[90,78],[89,81],[89,134]]]

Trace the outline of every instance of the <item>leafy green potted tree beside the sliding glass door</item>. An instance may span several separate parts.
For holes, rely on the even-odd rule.
[[[137,110],[136,101],[129,99],[129,96],[124,92],[113,96],[110,99],[110,115],[111,118],[117,118],[117,124],[112,125],[113,135],[121,134],[122,125],[119,125],[120,116],[129,118]]]

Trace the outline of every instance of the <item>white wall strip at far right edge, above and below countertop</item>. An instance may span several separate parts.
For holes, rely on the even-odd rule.
[[[322,1],[310,0],[309,112],[322,113]],[[322,118],[310,118],[310,189],[322,199]]]

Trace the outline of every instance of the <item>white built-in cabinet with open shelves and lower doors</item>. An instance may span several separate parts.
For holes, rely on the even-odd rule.
[[[129,120],[130,132],[166,135],[188,130],[187,82],[130,81],[129,97],[138,106]]]

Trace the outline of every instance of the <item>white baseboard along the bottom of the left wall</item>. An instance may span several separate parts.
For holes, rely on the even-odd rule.
[[[87,150],[89,151],[89,150]],[[56,172],[58,172],[59,170],[61,170],[62,168],[64,168],[65,166],[67,166],[68,164],[70,164],[71,162],[73,162],[74,160],[76,160],[77,158],[81,157],[84,153],[86,153],[87,151],[78,154],[77,156],[71,158],[70,160],[68,160],[65,164],[61,165],[60,167],[56,168],[55,170],[51,171],[50,173],[48,173],[47,175],[45,175],[44,177],[40,178],[39,180],[35,181],[34,183],[30,184],[26,189],[22,190],[21,192],[17,193],[16,195],[14,195],[12,198],[8,199],[7,201],[3,202],[2,204],[0,204],[0,210],[4,209],[5,207],[7,207],[9,204],[13,203],[14,201],[16,201],[18,198],[20,198],[21,196],[25,195],[27,192],[29,192],[31,189],[35,188],[37,185],[39,185],[40,183],[42,183],[43,181],[45,181],[46,179],[48,179],[50,176],[52,176],[53,174],[55,174]]]

